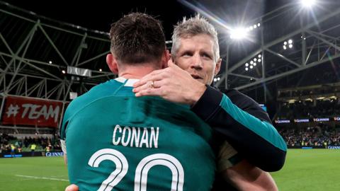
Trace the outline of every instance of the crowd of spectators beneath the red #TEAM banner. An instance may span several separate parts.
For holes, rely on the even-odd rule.
[[[50,139],[47,137],[25,137],[17,139],[8,134],[0,134],[0,153],[10,153],[15,149],[16,153],[31,151],[35,145],[35,151],[61,151],[60,139]]]

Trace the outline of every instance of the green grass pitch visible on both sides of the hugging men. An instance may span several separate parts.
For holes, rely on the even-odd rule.
[[[340,150],[288,149],[283,169],[271,174],[280,191],[340,190]],[[62,191],[67,185],[62,157],[0,158],[0,190]]]

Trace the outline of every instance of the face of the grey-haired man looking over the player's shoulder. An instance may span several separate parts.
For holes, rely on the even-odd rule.
[[[217,63],[214,61],[213,45],[209,35],[182,37],[175,64],[188,71],[194,79],[210,85],[221,64],[220,59]]]

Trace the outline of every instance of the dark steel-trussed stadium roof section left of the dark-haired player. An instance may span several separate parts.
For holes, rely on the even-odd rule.
[[[23,1],[13,3],[25,4]],[[70,100],[71,92],[81,95],[96,84],[115,78],[106,65],[106,54],[110,50],[108,33],[65,22],[67,17],[72,21],[72,16],[67,15],[67,11],[60,13],[64,4],[56,5],[50,10],[57,9],[57,13],[64,16],[63,21],[0,1],[1,96],[28,96],[65,102]],[[94,14],[104,9],[108,11],[103,5],[103,10],[95,10],[95,7],[92,7]],[[37,5],[36,8],[43,7]],[[76,16],[77,11],[72,11]],[[123,16],[123,12],[111,12],[115,19]],[[125,10],[125,13],[128,12]],[[102,20],[95,16],[92,19],[80,17],[88,23],[101,23]],[[105,19],[110,20],[105,24],[105,31],[108,31],[112,17]]]

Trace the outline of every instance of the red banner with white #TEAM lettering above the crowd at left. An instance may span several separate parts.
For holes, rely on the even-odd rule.
[[[58,127],[62,102],[8,96],[2,112],[4,125]]]

